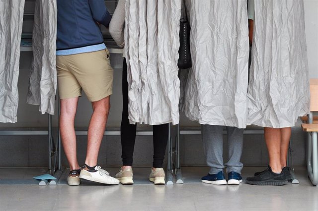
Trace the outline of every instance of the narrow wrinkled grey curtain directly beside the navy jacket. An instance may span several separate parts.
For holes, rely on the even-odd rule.
[[[38,105],[42,114],[54,114],[57,87],[56,34],[56,0],[36,0],[27,103]]]

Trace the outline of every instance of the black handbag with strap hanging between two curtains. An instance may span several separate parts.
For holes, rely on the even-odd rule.
[[[178,67],[180,69],[188,69],[192,66],[191,53],[190,53],[190,24],[187,19],[185,10],[185,2],[183,0],[182,17],[180,19],[180,48]]]

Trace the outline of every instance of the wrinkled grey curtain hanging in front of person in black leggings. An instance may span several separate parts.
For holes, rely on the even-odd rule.
[[[180,0],[126,0],[130,123],[179,122]]]

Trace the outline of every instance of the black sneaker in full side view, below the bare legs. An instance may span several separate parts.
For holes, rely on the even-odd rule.
[[[246,183],[250,185],[286,185],[287,179],[284,171],[276,174],[272,168],[268,166],[265,171],[260,172],[253,177],[247,177]]]

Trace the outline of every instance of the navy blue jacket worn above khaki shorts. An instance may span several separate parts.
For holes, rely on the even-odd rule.
[[[108,27],[111,15],[104,0],[57,0],[57,50],[103,43],[98,23]]]

